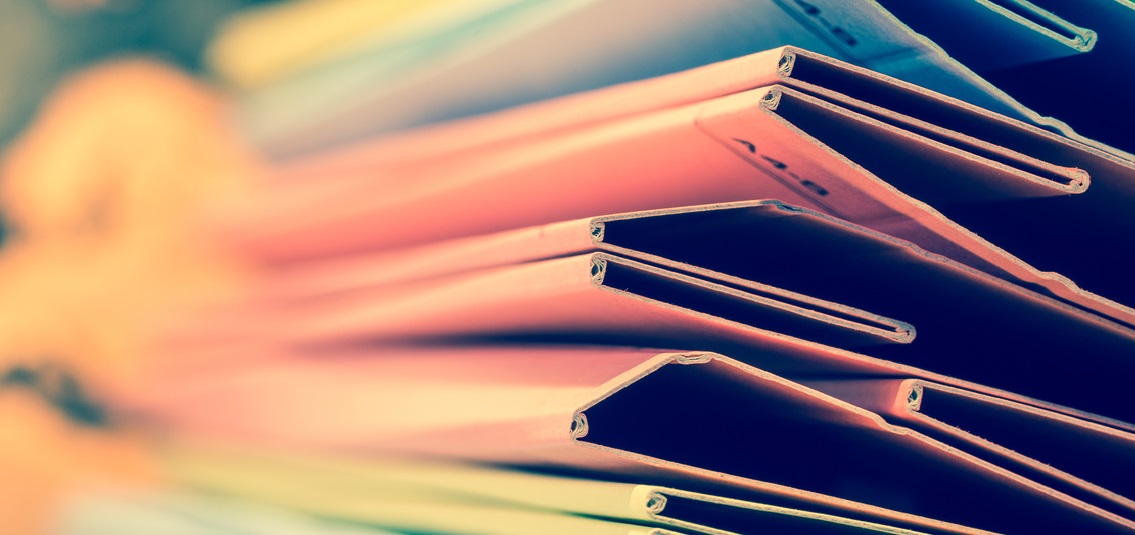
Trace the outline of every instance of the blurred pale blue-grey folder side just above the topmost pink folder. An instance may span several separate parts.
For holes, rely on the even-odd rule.
[[[287,157],[783,44],[834,52],[770,0],[511,1],[446,30],[251,92],[235,109],[237,124],[269,153]]]

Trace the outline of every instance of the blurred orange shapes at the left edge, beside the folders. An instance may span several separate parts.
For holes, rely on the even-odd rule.
[[[255,166],[221,99],[170,67],[121,60],[66,81],[0,161],[12,232],[0,249],[0,375],[49,362],[95,399],[131,381],[150,323],[237,279],[196,219]],[[36,533],[73,484],[144,465],[133,438],[0,388],[6,533]]]

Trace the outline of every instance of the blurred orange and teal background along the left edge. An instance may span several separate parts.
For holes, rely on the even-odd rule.
[[[185,221],[246,174],[205,67],[250,0],[0,1],[0,530],[45,533],[69,490],[148,480],[92,393],[143,318],[224,278]]]

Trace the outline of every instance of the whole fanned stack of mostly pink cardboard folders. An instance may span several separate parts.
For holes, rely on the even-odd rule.
[[[260,93],[246,124],[310,152],[211,220],[258,276],[163,329],[120,406],[186,488],[396,532],[1135,530],[1127,148],[885,30],[903,7],[842,16],[914,52],[843,61],[872,43],[832,30],[843,3],[767,3],[829,55],[378,136],[406,125],[368,108],[414,115],[421,84],[286,117],[299,89]],[[1006,42],[1083,30],[1007,3],[960,2],[1024,20]],[[918,30],[951,42],[934,28],[967,12]]]

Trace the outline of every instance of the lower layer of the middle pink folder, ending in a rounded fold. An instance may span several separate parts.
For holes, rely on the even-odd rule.
[[[782,292],[749,291],[606,253],[577,254],[419,282],[342,300],[316,302],[279,314],[234,307],[207,311],[204,329],[175,341],[211,334],[262,340],[268,346],[368,343],[464,342],[496,337],[586,340],[594,343],[689,346],[734,343],[763,348],[793,369],[822,363],[844,371],[858,365],[817,356],[819,343],[846,348],[902,344],[907,328],[807,306],[817,300],[781,299]],[[788,294],[791,295],[791,294]],[[254,317],[254,319],[247,319]],[[251,328],[250,328],[251,324]],[[899,325],[899,324],[893,324]],[[226,329],[230,329],[226,333]],[[233,332],[235,331],[235,332]],[[274,335],[275,333],[275,335]],[[804,340],[807,338],[807,342]],[[169,344],[173,345],[173,344]],[[205,351],[212,351],[208,348]],[[876,369],[872,367],[872,369]]]

